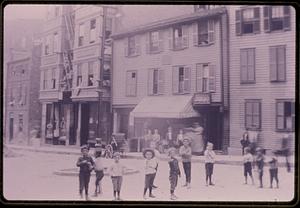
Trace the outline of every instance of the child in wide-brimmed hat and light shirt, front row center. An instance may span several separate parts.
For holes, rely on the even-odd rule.
[[[143,156],[146,159],[144,199],[146,199],[146,193],[148,189],[149,189],[149,197],[155,198],[155,196],[152,194],[152,188],[153,188],[153,182],[156,175],[158,163],[154,158],[155,153],[152,149],[145,149],[143,151]]]

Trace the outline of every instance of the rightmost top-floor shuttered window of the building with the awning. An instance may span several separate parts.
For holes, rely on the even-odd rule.
[[[214,21],[200,21],[193,24],[194,45],[207,45],[215,41]]]

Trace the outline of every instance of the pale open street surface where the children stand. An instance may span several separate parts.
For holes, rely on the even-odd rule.
[[[18,157],[4,158],[3,164],[3,193],[8,200],[80,200],[78,195],[78,178],[75,176],[59,176],[54,171],[74,168],[76,155],[37,153],[17,151]],[[139,173],[124,176],[121,198],[123,200],[141,201],[144,185],[144,161],[123,159],[129,168],[138,169]],[[108,165],[109,160],[105,161]],[[181,164],[180,164],[181,165]],[[169,200],[168,164],[161,161],[155,180],[158,189],[154,190],[154,200]],[[213,179],[215,186],[206,187],[204,164],[192,164],[192,188],[181,187],[184,174],[179,179],[176,190],[178,200],[184,201],[289,201],[294,195],[294,173],[287,173],[279,168],[280,188],[270,189],[269,172],[265,167],[264,186],[257,184],[244,185],[242,166],[215,166]],[[256,172],[255,172],[256,176]],[[90,195],[94,191],[94,177],[91,178]],[[257,180],[256,180],[257,182]],[[91,200],[112,200],[112,185],[108,176],[103,179],[102,196],[91,196]],[[148,199],[149,200],[149,199]]]

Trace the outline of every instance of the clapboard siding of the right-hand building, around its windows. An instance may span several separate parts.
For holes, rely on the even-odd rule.
[[[240,139],[245,131],[245,99],[261,99],[262,127],[259,145],[276,149],[280,147],[283,133],[276,132],[276,99],[295,99],[295,10],[291,7],[291,30],[265,33],[263,31],[263,7],[260,7],[258,34],[236,36],[235,10],[228,7],[230,14],[230,147],[241,148]],[[286,46],[286,82],[270,82],[269,47]],[[240,49],[255,48],[255,84],[240,84]]]

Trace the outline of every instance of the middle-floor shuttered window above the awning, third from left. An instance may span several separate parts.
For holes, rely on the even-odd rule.
[[[176,94],[190,92],[190,72],[190,67],[173,67],[173,93]]]

